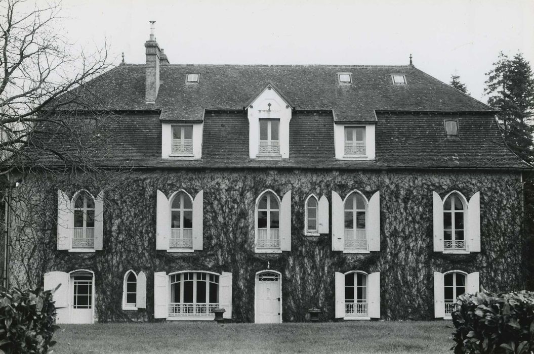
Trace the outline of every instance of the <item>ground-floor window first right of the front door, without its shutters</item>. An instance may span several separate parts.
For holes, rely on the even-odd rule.
[[[363,272],[345,275],[345,316],[368,316],[367,274]]]

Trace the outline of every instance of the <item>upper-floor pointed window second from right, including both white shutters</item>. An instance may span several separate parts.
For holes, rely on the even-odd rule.
[[[380,251],[380,192],[371,199],[353,191],[342,200],[332,191],[332,250],[345,253]]]

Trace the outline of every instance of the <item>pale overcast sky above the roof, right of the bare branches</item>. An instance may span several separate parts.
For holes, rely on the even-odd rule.
[[[43,0],[44,1],[44,0]],[[500,50],[534,62],[534,0],[64,0],[66,35],[144,63],[149,20],[171,63],[414,65],[482,101]]]

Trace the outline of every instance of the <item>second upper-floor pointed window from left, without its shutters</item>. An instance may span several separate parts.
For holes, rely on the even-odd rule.
[[[171,202],[170,248],[193,248],[193,202],[184,191]]]

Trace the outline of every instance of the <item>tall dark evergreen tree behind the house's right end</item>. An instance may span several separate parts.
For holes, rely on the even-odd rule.
[[[499,53],[493,69],[487,73],[485,93],[488,104],[498,109],[504,138],[512,151],[527,162],[534,162],[532,118],[534,115],[534,78],[530,63],[521,53],[509,59]]]

